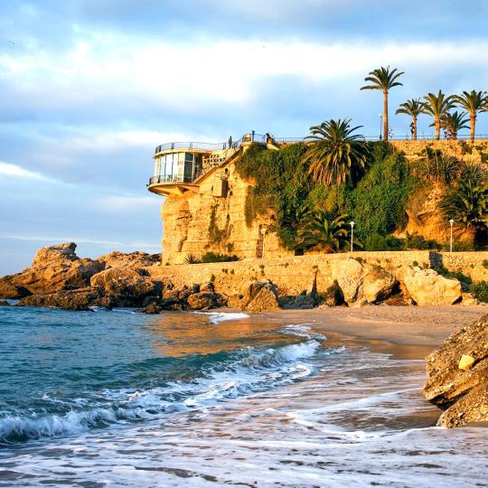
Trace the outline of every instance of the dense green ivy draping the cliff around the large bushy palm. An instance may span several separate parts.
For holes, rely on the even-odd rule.
[[[246,222],[273,211],[275,231],[287,249],[296,249],[304,209],[347,214],[356,222],[363,242],[371,235],[386,236],[404,224],[408,199],[417,180],[402,153],[386,143],[371,143],[365,174],[359,182],[325,188],[315,183],[302,164],[304,144],[279,150],[251,145],[236,162],[238,174],[248,179]],[[303,223],[303,222],[302,222]]]

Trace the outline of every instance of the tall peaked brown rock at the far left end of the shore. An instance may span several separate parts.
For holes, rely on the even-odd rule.
[[[89,286],[90,277],[99,273],[104,265],[78,258],[75,249],[74,242],[39,249],[31,267],[0,278],[0,296],[22,298]]]

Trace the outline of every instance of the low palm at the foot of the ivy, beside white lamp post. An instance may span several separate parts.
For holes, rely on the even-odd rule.
[[[349,242],[346,215],[334,216],[326,211],[316,211],[302,222],[297,235],[297,247],[319,248],[330,253],[345,249]],[[356,241],[356,245],[361,244]]]

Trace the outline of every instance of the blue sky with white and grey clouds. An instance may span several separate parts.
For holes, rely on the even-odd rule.
[[[68,240],[83,257],[159,252],[145,184],[164,142],[344,117],[378,136],[381,93],[360,88],[380,66],[405,71],[389,94],[405,135],[399,103],[488,89],[486,18],[483,0],[3,0],[0,276]]]

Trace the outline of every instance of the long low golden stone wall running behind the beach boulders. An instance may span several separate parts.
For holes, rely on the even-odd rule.
[[[249,281],[270,280],[281,295],[296,296],[312,290],[324,293],[333,284],[333,260],[356,258],[389,270],[401,279],[406,267],[443,265],[450,271],[461,271],[474,281],[488,280],[488,252],[438,253],[431,251],[352,252],[289,256],[286,258],[242,259],[241,261],[196,265],[153,266],[153,277],[170,279],[176,287],[212,281],[219,293],[243,293]],[[487,267],[484,267],[483,262]]]

